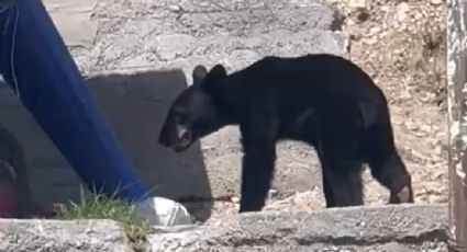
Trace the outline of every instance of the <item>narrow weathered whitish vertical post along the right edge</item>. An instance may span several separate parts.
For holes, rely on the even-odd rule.
[[[449,214],[457,245],[467,248],[467,1],[447,12],[447,105],[449,119]]]

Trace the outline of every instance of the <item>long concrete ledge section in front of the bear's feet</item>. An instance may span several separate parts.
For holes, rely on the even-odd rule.
[[[315,213],[253,213],[199,228],[159,230],[154,252],[446,251],[447,207],[401,205]]]

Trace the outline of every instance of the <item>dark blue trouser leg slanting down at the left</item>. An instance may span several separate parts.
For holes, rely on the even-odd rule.
[[[89,187],[144,199],[144,186],[42,1],[15,2],[0,13],[3,79]]]

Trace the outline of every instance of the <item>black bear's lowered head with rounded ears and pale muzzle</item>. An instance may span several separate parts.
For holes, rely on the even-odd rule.
[[[209,72],[203,66],[194,67],[193,84],[170,105],[158,142],[181,152],[199,138],[225,126],[220,100],[226,77],[222,65],[214,66]]]

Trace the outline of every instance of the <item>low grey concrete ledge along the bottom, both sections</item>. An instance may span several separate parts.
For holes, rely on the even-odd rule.
[[[203,226],[157,228],[154,252],[437,252],[446,251],[446,205],[325,209],[315,213],[251,213]],[[131,251],[110,220],[0,219],[0,251]]]

